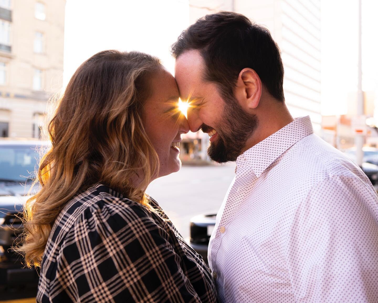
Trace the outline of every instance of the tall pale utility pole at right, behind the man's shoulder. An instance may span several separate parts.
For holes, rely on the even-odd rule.
[[[362,46],[361,46],[361,0],[358,0],[358,90],[357,90],[357,117],[361,119],[364,115],[364,94],[362,91]],[[365,122],[364,122],[365,123]],[[362,167],[364,152],[364,134],[355,134],[356,162]]]

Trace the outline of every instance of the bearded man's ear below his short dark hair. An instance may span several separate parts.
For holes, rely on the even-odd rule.
[[[248,111],[259,105],[262,84],[259,75],[250,68],[242,69],[235,87],[235,97],[239,104]]]

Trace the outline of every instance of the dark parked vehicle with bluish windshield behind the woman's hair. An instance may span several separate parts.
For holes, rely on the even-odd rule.
[[[20,298],[37,290],[38,272],[25,268],[21,256],[10,248],[23,231],[23,206],[29,198],[39,152],[47,144],[36,140],[0,140],[0,294],[4,299]]]

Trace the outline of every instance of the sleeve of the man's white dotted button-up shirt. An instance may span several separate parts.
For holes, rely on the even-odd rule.
[[[378,200],[359,178],[319,182],[299,205],[287,264],[296,302],[376,302]]]

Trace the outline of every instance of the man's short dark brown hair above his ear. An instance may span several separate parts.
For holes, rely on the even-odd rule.
[[[235,12],[206,15],[184,30],[172,45],[178,58],[198,50],[206,64],[204,80],[218,85],[223,97],[234,97],[242,69],[256,71],[268,92],[283,102],[283,65],[269,31]]]

